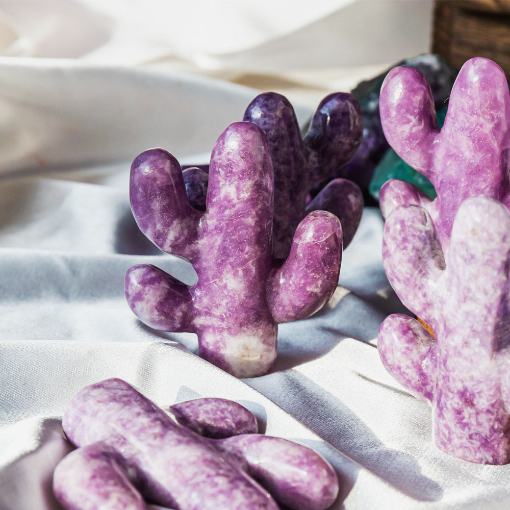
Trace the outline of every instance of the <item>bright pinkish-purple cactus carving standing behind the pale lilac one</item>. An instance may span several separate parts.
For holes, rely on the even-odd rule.
[[[432,182],[438,195],[430,201],[414,186],[390,181],[379,196],[385,215],[398,204],[422,205],[446,253],[453,219],[466,198],[489,195],[510,205],[510,94],[497,64],[480,57],[464,64],[441,130],[430,87],[415,69],[396,67],[388,73],[380,115],[390,145]]]

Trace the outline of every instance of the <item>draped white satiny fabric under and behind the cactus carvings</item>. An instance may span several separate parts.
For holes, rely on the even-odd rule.
[[[142,325],[123,296],[133,264],[192,283],[130,212],[129,165],[163,146],[203,163],[259,89],[320,97],[428,49],[431,2],[0,2],[0,510],[57,510],[60,417],[93,381],[121,377],[165,405],[243,402],[267,433],[310,444],[342,478],[336,509],[507,508],[510,467],[433,446],[428,406],[386,373],[377,330],[402,307],[366,208],[340,286],[279,328],[263,377],[192,354],[189,334]],[[186,72],[184,72],[186,71]],[[191,73],[190,73],[191,72]],[[220,80],[221,79],[221,80]]]

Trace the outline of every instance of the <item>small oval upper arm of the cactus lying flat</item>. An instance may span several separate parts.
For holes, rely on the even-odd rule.
[[[225,398],[197,398],[174,404],[169,409],[177,423],[200,436],[228,438],[258,431],[257,418],[241,404]]]

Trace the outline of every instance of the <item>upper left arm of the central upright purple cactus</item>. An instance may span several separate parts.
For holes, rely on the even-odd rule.
[[[140,230],[167,253],[194,258],[201,213],[190,206],[181,166],[163,149],[149,149],[131,166],[130,201]]]

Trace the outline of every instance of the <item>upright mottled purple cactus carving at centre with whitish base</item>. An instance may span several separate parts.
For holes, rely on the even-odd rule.
[[[235,376],[267,372],[277,324],[310,316],[338,284],[342,228],[331,213],[310,213],[288,258],[272,259],[272,164],[251,122],[231,124],[216,142],[205,212],[190,206],[181,167],[163,149],[135,159],[130,196],[140,230],[198,275],[190,288],[154,266],[132,267],[131,309],[153,328],[196,333],[199,355]]]

